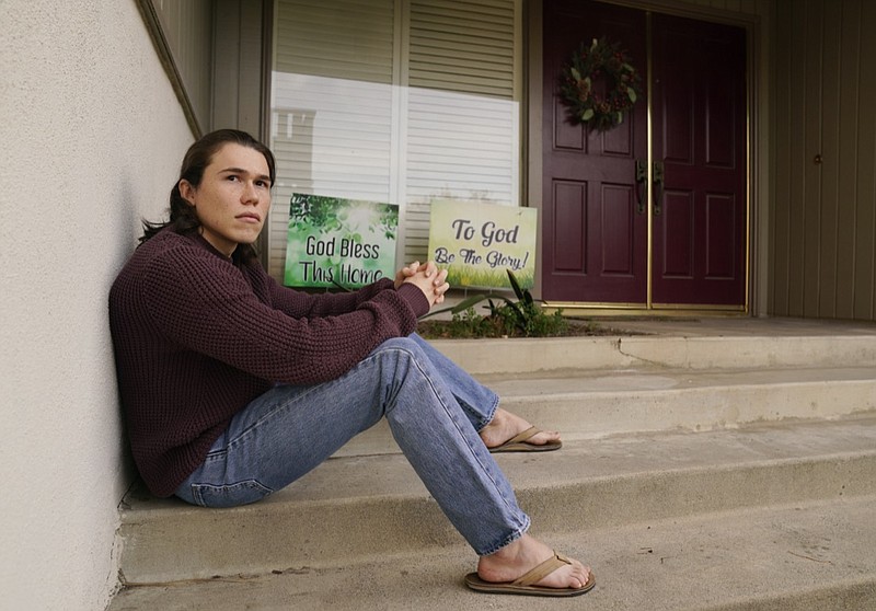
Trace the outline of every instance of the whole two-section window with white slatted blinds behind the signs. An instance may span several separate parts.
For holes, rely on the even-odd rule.
[[[518,206],[520,0],[278,0],[268,270],[292,193],[400,206],[396,264],[435,199]]]

